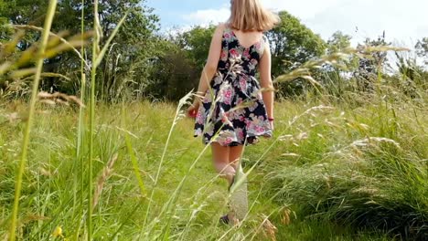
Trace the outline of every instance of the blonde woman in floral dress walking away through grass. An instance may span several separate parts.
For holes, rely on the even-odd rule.
[[[195,136],[211,146],[215,169],[229,186],[243,146],[273,134],[271,52],[263,32],[279,21],[259,0],[230,4],[230,19],[212,37],[196,98],[187,110],[196,117]],[[229,223],[230,218],[221,220]]]

